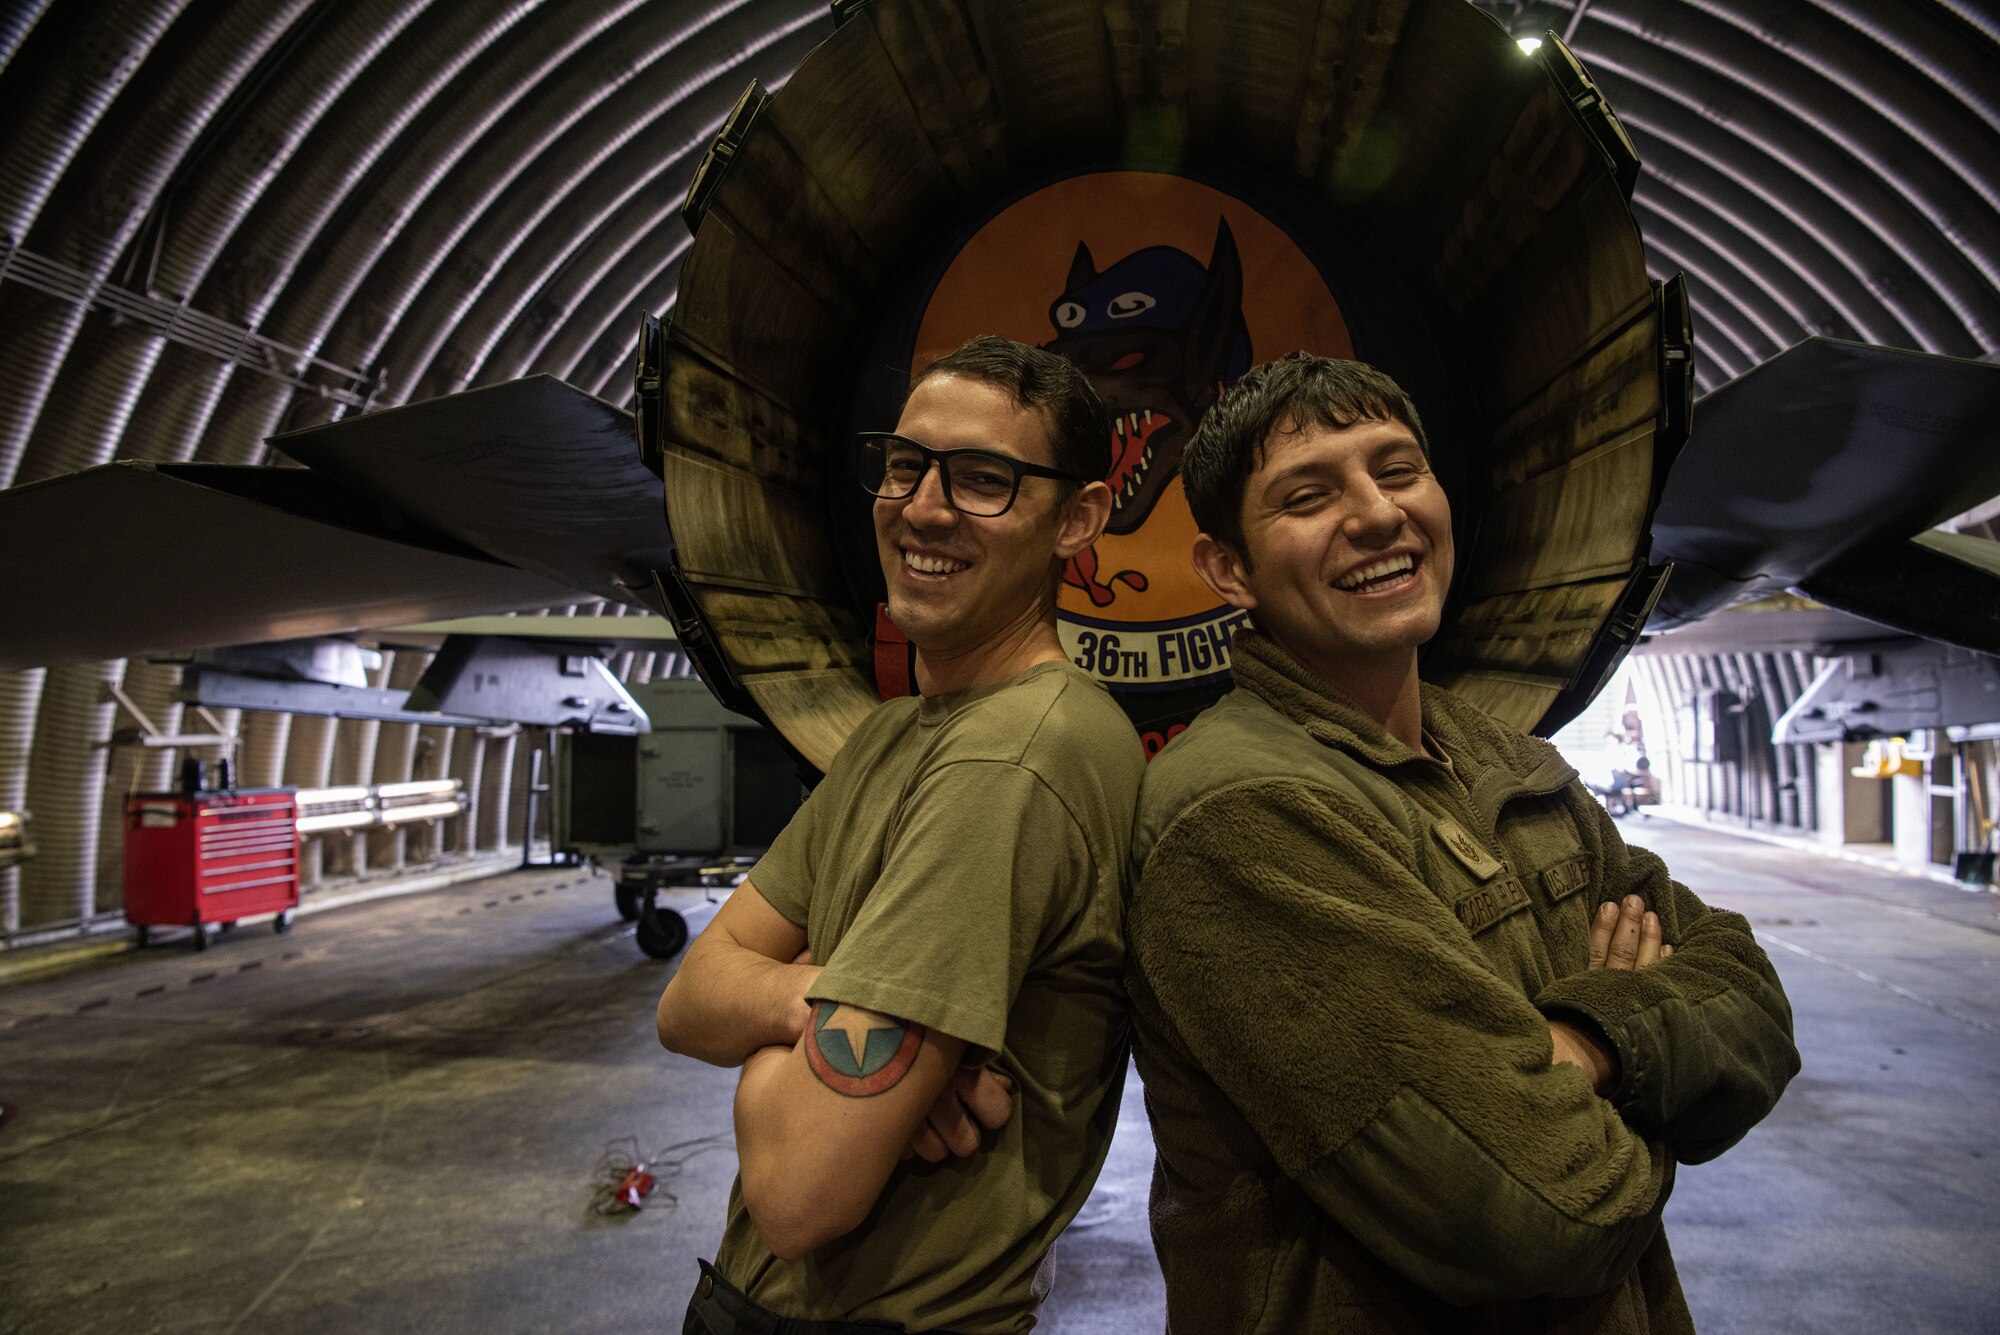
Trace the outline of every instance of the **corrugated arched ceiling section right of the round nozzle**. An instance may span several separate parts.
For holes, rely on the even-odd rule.
[[[1634,212],[1654,276],[1688,274],[1702,390],[1814,334],[2000,348],[2000,8],[1482,8],[1568,34],[1632,134]]]

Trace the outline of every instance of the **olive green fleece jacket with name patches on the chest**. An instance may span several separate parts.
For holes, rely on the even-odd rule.
[[[1660,1209],[1778,1101],[1750,925],[1626,847],[1562,755],[1426,685],[1450,763],[1270,640],[1148,767],[1128,915],[1174,1335],[1692,1331]],[[1588,971],[1638,893],[1674,955]],[[1618,1055],[1610,1097],[1548,1017]]]

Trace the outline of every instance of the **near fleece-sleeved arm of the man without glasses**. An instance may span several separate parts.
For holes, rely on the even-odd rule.
[[[1398,837],[1298,781],[1190,807],[1128,917],[1136,999],[1390,1269],[1456,1303],[1598,1293],[1656,1235],[1672,1161],[1596,1097],[1588,1015],[1564,1059]],[[1624,933],[1636,965],[1644,911]]]

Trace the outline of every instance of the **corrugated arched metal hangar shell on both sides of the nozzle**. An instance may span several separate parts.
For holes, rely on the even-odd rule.
[[[1482,8],[1566,34],[1622,116],[1654,276],[1692,280],[1704,390],[1812,334],[2000,346],[1992,6]],[[702,152],[830,30],[824,0],[6,6],[0,486],[262,462],[278,430],[534,372],[626,404]],[[106,683],[172,707],[146,664],[0,673],[0,807],[34,807],[44,847],[26,895],[0,871],[8,927],[116,903],[104,815],[164,759],[106,765]],[[252,777],[394,777],[374,725],[258,727]]]

